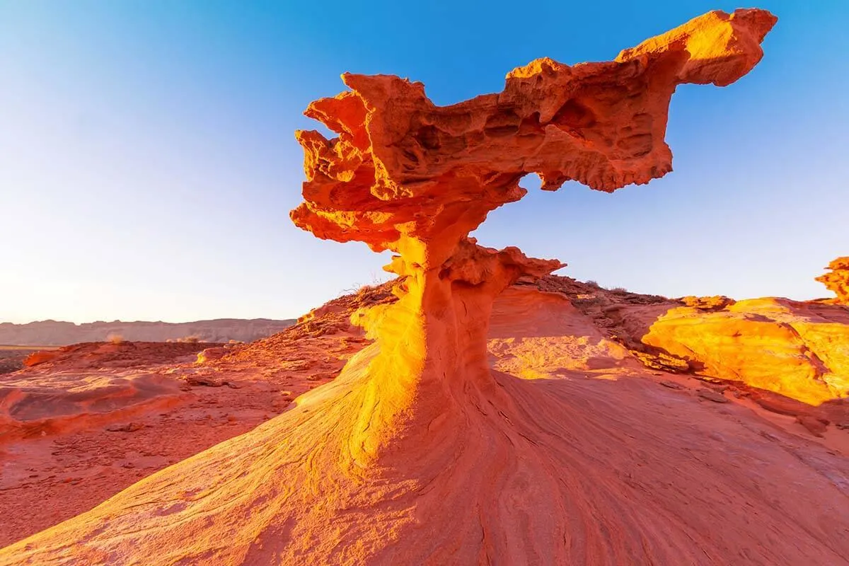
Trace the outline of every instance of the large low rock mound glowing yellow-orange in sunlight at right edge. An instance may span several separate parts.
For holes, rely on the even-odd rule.
[[[786,299],[740,300],[721,310],[672,308],[643,343],[698,373],[743,381],[809,405],[849,395],[849,313]]]

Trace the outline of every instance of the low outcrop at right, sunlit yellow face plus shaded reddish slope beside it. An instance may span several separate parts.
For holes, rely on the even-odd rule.
[[[666,299],[558,276],[537,286],[565,294],[649,368],[745,384],[793,406],[849,401],[849,312],[841,305],[775,297]]]

